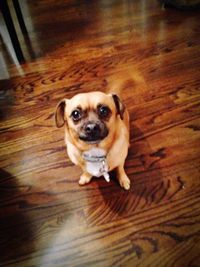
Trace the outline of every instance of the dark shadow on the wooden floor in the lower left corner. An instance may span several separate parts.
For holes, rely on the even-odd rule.
[[[0,169],[0,265],[17,260],[34,249],[34,227],[26,213],[28,202],[22,197],[17,178]],[[28,188],[27,188],[28,190]]]

